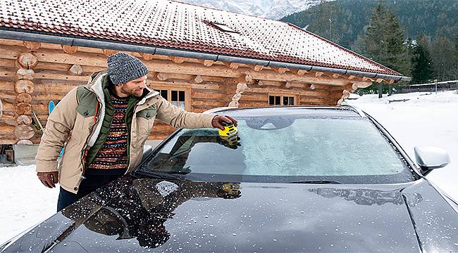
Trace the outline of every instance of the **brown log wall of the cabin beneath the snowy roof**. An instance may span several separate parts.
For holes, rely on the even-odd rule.
[[[49,100],[60,100],[87,83],[92,72],[106,68],[106,58],[117,51],[0,39],[0,144],[39,143],[32,112],[43,126]],[[211,60],[132,53],[151,70],[152,89],[189,91],[192,112],[221,106],[268,106],[269,93],[291,95],[296,105],[338,105],[349,93],[374,80],[323,72],[222,63]],[[378,81],[378,80],[377,80]],[[380,81],[381,82],[381,81]],[[149,139],[173,131],[156,123]]]

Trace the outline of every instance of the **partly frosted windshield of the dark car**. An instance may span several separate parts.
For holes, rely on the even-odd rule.
[[[367,117],[345,110],[250,116],[254,112],[224,112],[238,121],[238,135],[232,139],[220,136],[218,129],[178,131],[137,172],[201,181],[414,180],[402,156]]]

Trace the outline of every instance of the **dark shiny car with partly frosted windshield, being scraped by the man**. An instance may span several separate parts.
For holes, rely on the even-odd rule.
[[[458,252],[457,202],[351,106],[213,110],[238,134],[178,129],[132,175],[1,252]]]

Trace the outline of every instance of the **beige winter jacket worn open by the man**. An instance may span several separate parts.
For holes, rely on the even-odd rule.
[[[98,110],[94,110],[92,115],[87,112],[79,112],[78,88],[72,89],[49,115],[46,129],[35,157],[37,172],[58,171],[58,183],[71,193],[78,193],[84,171],[85,150],[89,149],[97,140],[101,122],[103,122],[105,115],[104,92],[101,88],[104,75],[106,75],[106,72],[92,74],[86,85],[89,91],[97,95],[97,100],[99,101]],[[186,112],[163,99],[159,96],[159,92],[149,89],[148,91],[147,96],[144,96],[137,103],[132,116],[129,167],[126,174],[140,164],[144,142],[151,134],[155,119],[171,124],[174,127],[202,128],[212,127],[211,120],[216,116]],[[144,110],[149,113],[142,113]],[[67,141],[68,136],[70,138]],[[64,144],[65,149],[61,163],[57,164],[58,155]]]

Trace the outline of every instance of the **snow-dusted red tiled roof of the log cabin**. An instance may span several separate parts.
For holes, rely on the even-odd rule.
[[[0,1],[0,29],[401,76],[287,22],[175,1]]]

